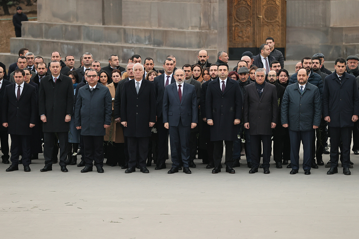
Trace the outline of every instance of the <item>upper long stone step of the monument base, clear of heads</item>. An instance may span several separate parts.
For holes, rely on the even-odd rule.
[[[22,37],[103,44],[141,44],[151,47],[216,49],[215,30],[177,30],[27,21]]]

